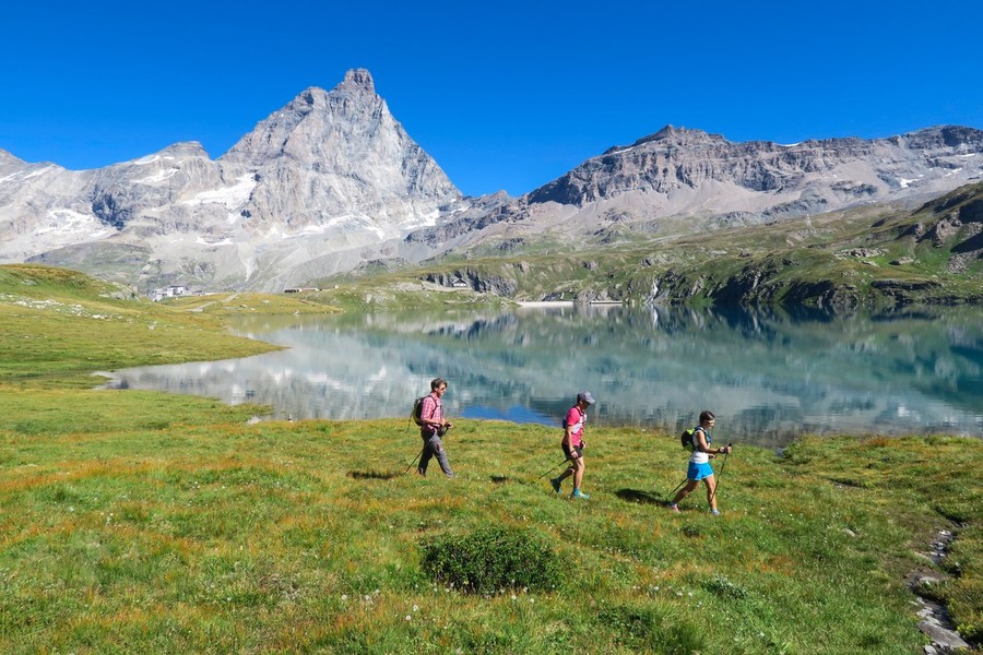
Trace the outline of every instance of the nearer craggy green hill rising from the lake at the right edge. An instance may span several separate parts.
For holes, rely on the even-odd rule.
[[[712,265],[666,275],[666,291],[829,308],[980,302],[981,209],[976,184],[915,212],[866,209],[733,231]]]

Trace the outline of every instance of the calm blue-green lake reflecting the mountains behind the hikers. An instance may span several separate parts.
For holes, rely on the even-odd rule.
[[[701,409],[721,442],[801,433],[983,436],[979,310],[879,318],[695,309],[525,308],[253,317],[288,349],[118,372],[110,386],[270,405],[275,418],[408,417],[447,378],[449,416],[559,425],[581,389],[594,425],[675,433]]]

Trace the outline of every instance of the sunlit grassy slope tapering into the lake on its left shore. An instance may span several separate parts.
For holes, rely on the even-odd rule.
[[[274,346],[228,334],[232,295],[153,303],[119,285],[51,266],[0,266],[0,385],[92,386],[95,370],[245,357]],[[211,298],[211,299],[206,299]],[[270,299],[275,303],[270,309]],[[204,311],[197,302],[209,302]],[[247,305],[251,302],[252,305]],[[299,299],[239,297],[239,311],[311,311]],[[323,305],[317,311],[331,311]]]

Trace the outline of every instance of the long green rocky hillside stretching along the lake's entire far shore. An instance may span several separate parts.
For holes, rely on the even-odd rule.
[[[411,281],[462,278],[513,300],[663,300],[885,308],[983,299],[983,184],[917,211],[869,205],[798,221],[702,235],[647,238],[600,230],[575,249],[549,237],[485,243],[422,267],[342,278],[345,294],[371,298]],[[332,288],[333,283],[322,282]],[[333,291],[323,297],[334,301]]]

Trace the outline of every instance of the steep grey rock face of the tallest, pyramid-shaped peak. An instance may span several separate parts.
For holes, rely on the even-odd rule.
[[[461,196],[364,70],[330,93],[308,88],[218,162],[254,175],[240,212],[254,230],[344,227],[393,238],[434,225]]]

